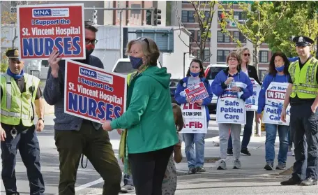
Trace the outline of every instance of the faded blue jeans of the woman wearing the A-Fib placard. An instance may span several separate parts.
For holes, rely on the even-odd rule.
[[[204,164],[205,135],[206,133],[183,133],[185,157],[187,157],[189,168],[202,167]]]

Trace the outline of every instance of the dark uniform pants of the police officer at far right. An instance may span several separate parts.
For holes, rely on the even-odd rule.
[[[311,104],[292,106],[290,109],[290,127],[294,133],[295,163],[293,178],[303,180],[301,177],[307,153],[307,168],[305,178],[318,179],[318,113],[312,113]],[[304,135],[307,141],[305,150]]]

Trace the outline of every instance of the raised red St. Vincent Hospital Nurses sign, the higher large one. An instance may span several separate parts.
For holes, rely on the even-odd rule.
[[[17,6],[21,59],[85,59],[84,4]]]

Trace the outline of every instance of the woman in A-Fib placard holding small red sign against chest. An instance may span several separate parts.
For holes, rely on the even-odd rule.
[[[190,174],[205,172],[204,137],[210,120],[206,105],[211,102],[212,96],[209,81],[204,78],[202,61],[192,59],[187,76],[178,83],[174,96],[181,104],[185,120],[185,127],[180,133],[183,133]]]

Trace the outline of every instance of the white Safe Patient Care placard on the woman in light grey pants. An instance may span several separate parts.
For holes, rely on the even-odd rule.
[[[238,87],[246,87],[242,82],[236,82]],[[216,108],[216,122],[230,124],[246,124],[245,102],[239,99],[237,92],[232,92],[227,87],[225,92],[218,97],[218,106]]]

